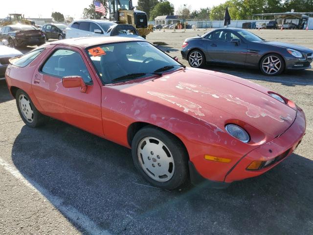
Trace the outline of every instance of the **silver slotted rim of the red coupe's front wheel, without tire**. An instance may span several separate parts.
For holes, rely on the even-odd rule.
[[[138,144],[137,157],[140,166],[151,179],[166,182],[173,177],[175,171],[173,156],[159,139],[143,138]]]

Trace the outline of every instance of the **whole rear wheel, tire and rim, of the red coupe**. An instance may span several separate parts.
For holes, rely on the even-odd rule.
[[[39,113],[29,96],[22,90],[16,93],[16,104],[23,122],[30,127],[38,127],[45,124],[48,119]]]

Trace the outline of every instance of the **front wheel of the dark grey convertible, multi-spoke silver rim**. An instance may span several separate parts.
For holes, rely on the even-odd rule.
[[[284,59],[278,54],[271,53],[261,59],[260,70],[268,76],[278,75],[284,69]]]

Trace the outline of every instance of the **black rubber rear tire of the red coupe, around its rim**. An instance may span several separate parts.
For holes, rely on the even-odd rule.
[[[22,97],[23,96],[23,97]],[[18,108],[18,111],[19,111],[19,114],[23,120],[23,122],[29,126],[29,127],[32,127],[32,128],[35,128],[35,127],[38,127],[38,126],[41,126],[41,125],[44,125],[47,121],[48,121],[48,117],[46,117],[45,115],[42,115],[41,113],[39,113],[39,111],[36,109],[35,105],[33,104],[33,102],[31,101],[31,99],[29,98],[28,94],[26,94],[24,91],[22,91],[21,89],[19,89],[17,92],[16,92],[16,105],[17,105],[17,108]],[[22,104],[20,105],[20,101],[19,99],[24,99],[24,97],[26,99],[29,100],[29,106],[31,108],[31,111],[33,112],[33,115],[32,115],[32,120],[30,121],[30,119],[27,119],[26,117],[24,117],[24,114],[21,110],[21,108],[23,107],[24,109],[26,107],[22,106]],[[26,111],[30,111],[30,110],[26,110]],[[26,112],[25,111],[25,112]],[[30,111],[30,112],[31,112]]]

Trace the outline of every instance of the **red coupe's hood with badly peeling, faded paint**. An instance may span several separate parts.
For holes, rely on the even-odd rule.
[[[142,93],[138,95],[193,117],[212,122],[220,115],[210,111],[218,109],[229,114],[227,120],[244,121],[272,138],[285,132],[296,117],[294,109],[269,96],[267,89],[215,71],[190,68],[138,86],[136,91]]]

